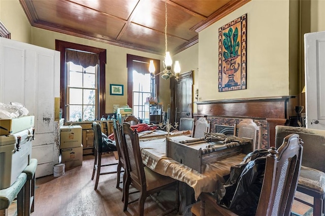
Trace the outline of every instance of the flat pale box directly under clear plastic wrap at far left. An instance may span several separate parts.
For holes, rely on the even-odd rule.
[[[9,135],[34,127],[34,116],[22,116],[15,119],[0,119],[0,135]]]

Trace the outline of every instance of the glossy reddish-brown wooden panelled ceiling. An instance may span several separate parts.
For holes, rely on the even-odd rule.
[[[167,0],[168,51],[250,0]],[[120,47],[165,55],[165,0],[19,0],[30,24]],[[217,29],[216,29],[217,31]]]

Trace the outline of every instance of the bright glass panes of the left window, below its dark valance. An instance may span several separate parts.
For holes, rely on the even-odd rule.
[[[67,121],[98,118],[98,65],[84,68],[67,62]]]

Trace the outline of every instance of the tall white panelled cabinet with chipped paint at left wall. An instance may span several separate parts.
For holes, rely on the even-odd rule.
[[[60,52],[0,38],[0,102],[19,102],[35,116],[32,158],[36,177],[53,174],[58,163],[58,122],[54,98],[60,97]]]

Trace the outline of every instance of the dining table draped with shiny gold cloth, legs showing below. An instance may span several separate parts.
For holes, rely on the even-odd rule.
[[[161,133],[161,134],[159,134]],[[224,190],[224,176],[230,173],[230,167],[239,164],[246,154],[202,165],[202,173],[166,156],[167,137],[163,132],[149,136],[139,133],[139,145],[143,163],[153,171],[170,176],[180,182],[179,213],[186,214],[191,204],[198,200],[202,192]],[[187,135],[170,134],[173,141],[193,139]],[[193,147],[195,148],[195,147]],[[192,189],[192,190],[189,190]],[[194,198],[194,200],[193,200]],[[189,209],[190,210],[190,209]]]

